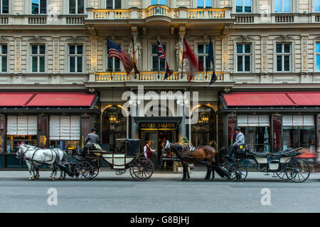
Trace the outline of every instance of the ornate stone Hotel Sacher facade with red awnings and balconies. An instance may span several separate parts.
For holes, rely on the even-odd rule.
[[[319,28],[320,0],[0,0],[0,169],[25,167],[18,143],[75,152],[91,128],[107,150],[183,137],[220,150],[237,126],[257,152],[303,147],[317,165]],[[134,43],[139,74],[107,38]],[[183,39],[203,65],[191,82]]]

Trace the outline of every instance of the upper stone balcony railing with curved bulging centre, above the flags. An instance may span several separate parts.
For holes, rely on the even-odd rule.
[[[151,16],[166,16],[169,18],[230,18],[229,8],[224,9],[170,9],[168,6],[154,5],[147,9],[87,9],[87,19],[114,20],[114,19],[144,19]]]

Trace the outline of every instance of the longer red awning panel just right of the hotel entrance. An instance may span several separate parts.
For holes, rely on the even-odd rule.
[[[284,92],[235,92],[223,94],[227,106],[294,106]]]

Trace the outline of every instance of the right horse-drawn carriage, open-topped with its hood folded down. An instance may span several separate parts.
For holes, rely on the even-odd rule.
[[[230,172],[237,172],[241,180],[247,178],[247,166],[244,161],[255,162],[256,170],[260,172],[273,172],[280,179],[289,179],[292,182],[304,182],[309,178],[310,167],[305,160],[297,158],[302,148],[282,150],[277,153],[256,153],[247,146],[240,146],[235,151],[235,159],[223,161],[223,165]],[[232,179],[237,176],[232,175]]]

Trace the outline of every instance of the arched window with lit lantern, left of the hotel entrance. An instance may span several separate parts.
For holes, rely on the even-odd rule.
[[[122,114],[118,106],[111,106],[102,114],[102,146],[106,150],[114,151],[117,138],[127,137],[127,117]]]

